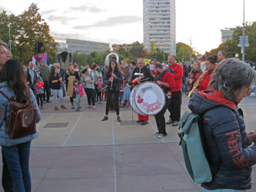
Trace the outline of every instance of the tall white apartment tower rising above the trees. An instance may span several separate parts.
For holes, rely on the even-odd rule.
[[[176,55],[175,0],[143,0],[143,45]]]

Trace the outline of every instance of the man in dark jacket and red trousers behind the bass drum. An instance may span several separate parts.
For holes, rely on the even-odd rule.
[[[154,81],[154,77],[151,74],[151,70],[146,68],[144,65],[143,58],[138,58],[138,66],[133,70],[131,81],[137,85],[145,81]],[[137,123],[141,123],[141,125],[148,124],[148,115],[138,114]]]

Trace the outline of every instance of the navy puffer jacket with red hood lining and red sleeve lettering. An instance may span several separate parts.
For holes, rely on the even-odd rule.
[[[210,183],[202,184],[208,190],[251,188],[251,166],[256,164],[256,144],[248,147],[241,109],[219,91],[194,92],[188,108],[204,114],[203,128],[210,164],[221,157],[221,167]]]

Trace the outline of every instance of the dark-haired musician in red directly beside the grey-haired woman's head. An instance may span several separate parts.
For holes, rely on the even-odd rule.
[[[207,71],[204,73],[203,77],[201,78],[200,83],[198,84],[197,91],[204,91],[208,89],[208,85],[212,79],[212,74],[214,74],[214,69],[217,62],[217,55],[210,56],[204,62]]]

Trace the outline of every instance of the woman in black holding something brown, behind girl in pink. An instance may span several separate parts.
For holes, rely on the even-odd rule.
[[[77,79],[78,81],[80,81],[80,79],[81,79],[78,72],[74,71],[74,66],[71,63],[68,65],[68,69],[67,69],[66,74],[65,74],[65,84],[66,84],[67,93],[69,92],[68,91],[68,81],[69,81],[70,76],[75,76],[75,79]],[[72,106],[71,108],[75,109],[75,104],[74,104],[75,91],[74,91],[73,81],[70,85],[71,86],[69,88],[72,90],[72,91],[70,91],[72,93],[72,97],[71,97],[71,95],[68,95],[68,96],[70,98],[70,102],[71,102],[71,106]]]

